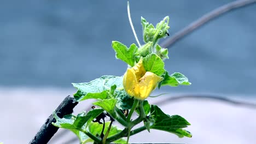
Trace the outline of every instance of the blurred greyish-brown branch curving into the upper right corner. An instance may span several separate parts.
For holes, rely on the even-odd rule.
[[[184,38],[186,35],[195,31],[197,28],[201,27],[202,25],[205,25],[207,22],[210,22],[211,20],[213,20],[223,14],[226,14],[231,10],[242,8],[242,7],[248,6],[253,3],[256,3],[256,0],[237,0],[237,1],[225,4],[222,7],[219,7],[217,9],[214,9],[210,13],[207,13],[207,14],[203,15],[202,17],[200,17],[200,19],[197,19],[196,21],[192,22],[190,25],[183,28],[181,31],[175,33],[171,38],[165,40],[161,44],[161,46],[162,47],[170,47],[171,45],[176,43],[178,40]]]

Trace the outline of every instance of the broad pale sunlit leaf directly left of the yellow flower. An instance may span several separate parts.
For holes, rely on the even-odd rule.
[[[123,88],[123,76],[106,75],[85,83],[72,83],[77,88],[74,98],[77,101],[86,99],[106,99],[111,86]]]

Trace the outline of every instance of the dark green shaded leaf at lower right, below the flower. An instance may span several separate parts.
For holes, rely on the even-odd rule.
[[[178,115],[174,115],[174,116],[166,115],[156,105],[151,106],[150,113],[155,120],[154,124],[150,127],[151,129],[167,131],[167,132],[176,134],[179,137],[183,137],[183,136],[192,137],[189,131],[182,129],[190,125],[190,123],[183,117]]]

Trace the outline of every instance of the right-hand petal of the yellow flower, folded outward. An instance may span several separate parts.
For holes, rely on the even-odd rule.
[[[140,82],[138,83],[139,95],[135,95],[135,98],[141,100],[146,99],[149,96],[149,94],[156,88],[158,83],[162,80],[162,77],[147,71],[146,74],[140,79]]]

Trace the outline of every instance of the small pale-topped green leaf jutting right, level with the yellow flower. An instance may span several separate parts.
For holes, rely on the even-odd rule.
[[[172,86],[177,87],[179,85],[189,86],[191,83],[188,81],[188,78],[181,73],[173,73],[171,75],[166,71],[164,75],[164,80],[161,82],[161,86]]]

